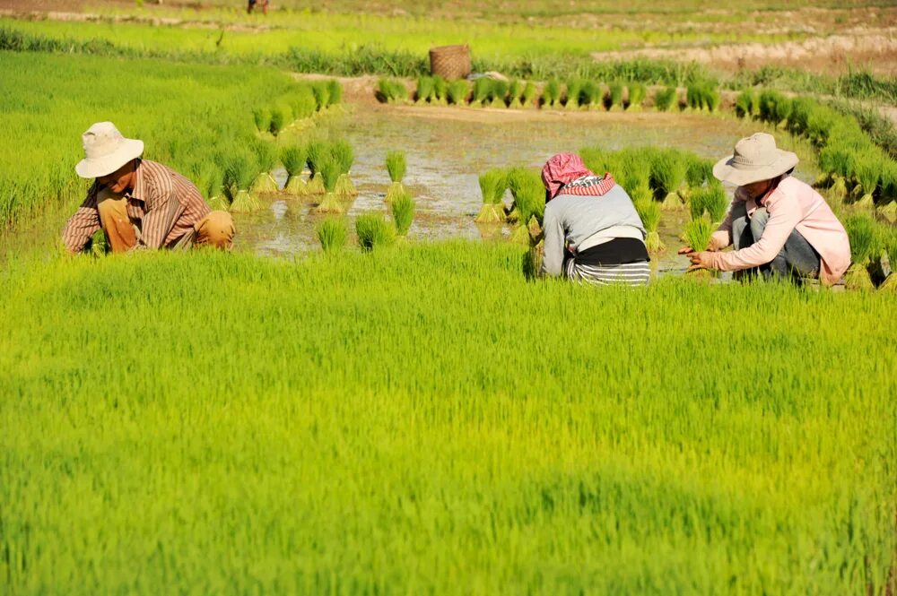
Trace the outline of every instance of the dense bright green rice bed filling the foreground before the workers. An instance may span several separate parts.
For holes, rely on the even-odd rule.
[[[10,263],[0,592],[884,594],[893,294],[521,253]]]

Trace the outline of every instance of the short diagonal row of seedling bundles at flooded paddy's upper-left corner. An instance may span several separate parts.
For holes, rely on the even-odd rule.
[[[313,117],[343,100],[343,87],[335,79],[299,82],[294,91],[252,110],[259,133],[281,134],[296,120]]]

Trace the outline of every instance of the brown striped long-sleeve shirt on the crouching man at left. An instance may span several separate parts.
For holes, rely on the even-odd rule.
[[[62,239],[71,253],[83,249],[100,229],[97,194],[101,188],[94,181],[81,207],[65,224]],[[128,219],[140,230],[135,249],[174,246],[210,212],[196,185],[150,160],[137,160],[134,189],[124,196]]]

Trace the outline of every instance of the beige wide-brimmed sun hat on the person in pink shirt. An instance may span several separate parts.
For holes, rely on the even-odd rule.
[[[776,147],[771,134],[755,133],[735,144],[735,153],[713,166],[713,176],[722,182],[745,186],[781,176],[797,166],[797,155]]]

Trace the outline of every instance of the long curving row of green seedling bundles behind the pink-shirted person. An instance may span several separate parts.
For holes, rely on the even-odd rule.
[[[807,97],[778,91],[742,91],[736,114],[753,117],[808,139],[819,151],[816,185],[833,198],[897,215],[897,162],[875,145],[855,117]]]

